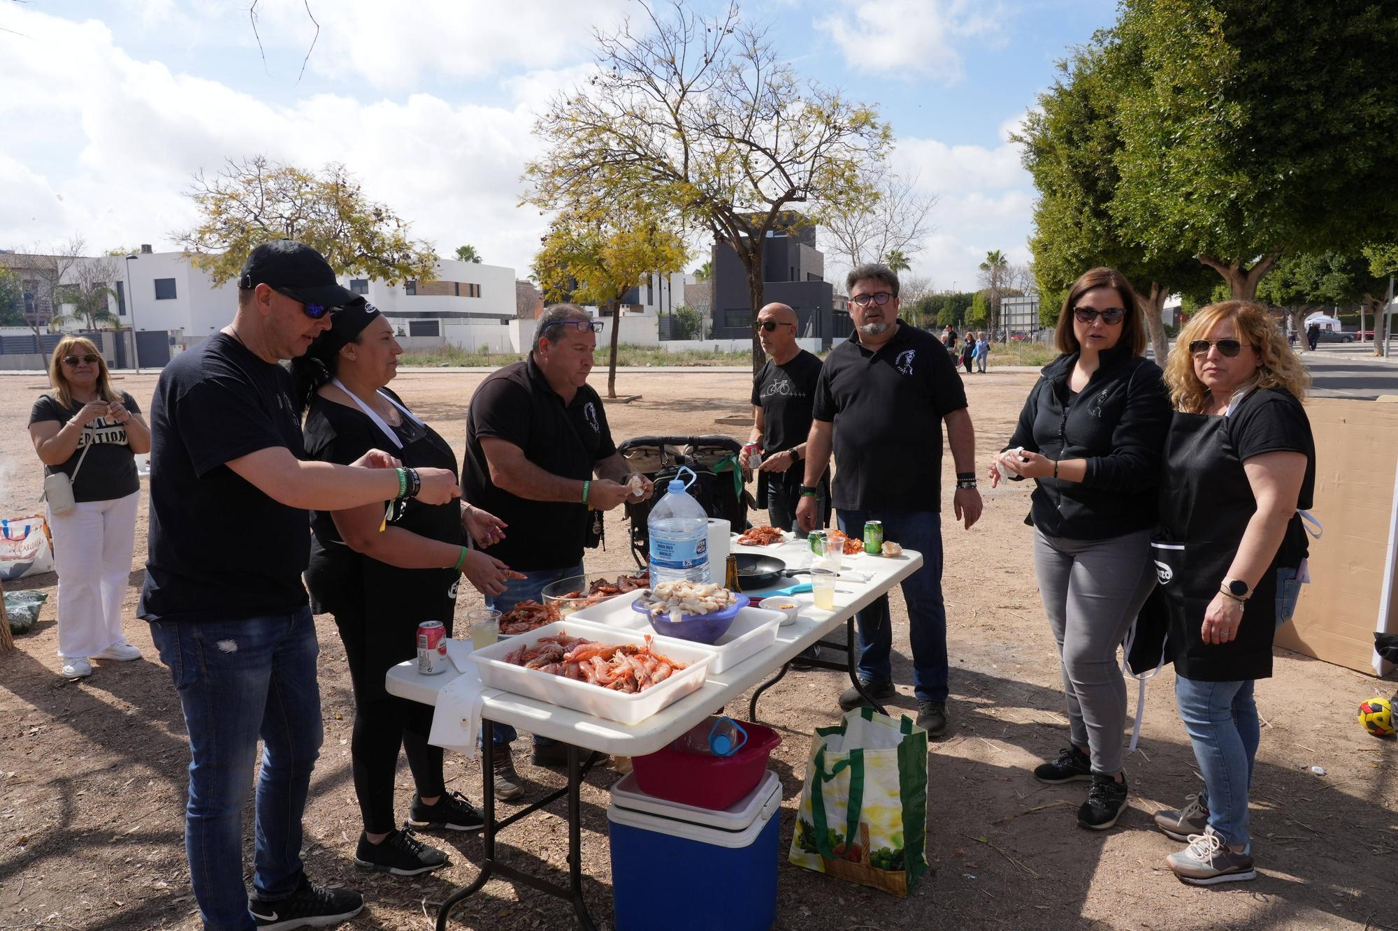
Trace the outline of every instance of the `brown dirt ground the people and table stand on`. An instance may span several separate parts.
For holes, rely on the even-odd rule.
[[[480,375],[408,372],[393,387],[460,450],[467,400]],[[593,376],[604,384],[603,375]],[[1008,438],[1032,375],[969,376],[981,457]],[[148,404],[154,376],[124,376],[120,387]],[[36,376],[0,377],[0,502],[6,514],[34,513],[41,470],[25,424],[45,389]],[[640,394],[610,405],[614,436],[724,432],[714,418],[747,412],[741,373],[624,372],[618,391]],[[728,428],[735,435],[742,428]],[[889,450],[895,453],[896,450]],[[945,471],[949,477],[951,457]],[[944,488],[949,486],[944,477]],[[1392,685],[1279,651],[1276,675],[1258,682],[1265,724],[1253,793],[1258,881],[1212,890],[1181,885],[1165,868],[1180,844],[1152,828],[1151,815],[1179,807],[1198,786],[1195,763],[1173,702],[1166,668],[1152,681],[1141,749],[1127,759],[1130,811],[1117,828],[1081,830],[1074,812],[1085,784],[1047,787],[1029,769],[1067,742],[1058,665],[1035,586],[1030,530],[1022,519],[1029,491],[984,491],[986,514],[970,531],[951,523],[945,538],[945,596],[952,660],[948,735],[930,758],[931,872],[906,900],[784,863],[801,793],[809,735],[837,716],[847,681],[835,672],[788,675],[762,700],[759,717],[783,744],[780,774],[783,863],[780,928],[1377,928],[1398,927],[1398,784],[1392,741],[1355,723],[1356,705]],[[944,495],[949,500],[949,495]],[[50,593],[36,630],[0,656],[0,928],[197,928],[182,846],[185,726],[166,670],[145,625],[134,618],[145,558],[145,505],[126,600],[126,633],[145,658],[96,663],[91,678],[59,677],[52,575],[11,587]],[[765,520],[765,516],[762,517]],[[630,566],[625,527],[612,519],[608,549],[590,573]],[[1325,566],[1314,566],[1325,572]],[[464,590],[470,591],[466,586]],[[459,611],[480,597],[463,596]],[[1303,596],[1304,597],[1304,596]],[[470,882],[482,857],[480,836],[435,837],[453,864],[424,879],[363,874],[354,867],[359,832],[350,776],[352,705],[344,649],[329,616],[317,618],[326,739],[306,811],[306,864],[313,879],[363,890],[368,907],[352,928],[428,928],[452,889]],[[895,597],[893,705],[916,713],[907,660],[906,612]],[[1135,696],[1132,689],[1132,712]],[[747,699],[728,706],[747,712]],[[537,794],[562,784],[556,773],[516,766]],[[1324,774],[1313,772],[1324,769]],[[611,927],[607,788],[598,769],[583,793],[583,861],[593,916]],[[481,797],[477,763],[447,759],[447,784]],[[398,808],[412,791],[405,763]],[[505,811],[510,811],[505,805]],[[566,879],[562,802],[500,836],[503,857],[556,871]],[[245,816],[250,863],[252,808]],[[720,890],[721,895],[721,890]],[[657,902],[657,927],[684,903]],[[569,907],[523,885],[489,882],[454,917],[471,928],[570,927]]]

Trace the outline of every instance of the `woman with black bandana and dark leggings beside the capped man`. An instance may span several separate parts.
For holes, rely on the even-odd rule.
[[[384,449],[408,468],[457,471],[452,447],[384,387],[401,354],[387,319],[358,305],[338,310],[330,330],[292,361],[310,459],[352,463],[365,450]],[[387,506],[316,512],[306,584],[316,614],[336,618],[354,684],[351,760],[363,815],[355,863],[411,876],[445,867],[447,857],[394,828],[400,746],[417,786],[408,825],[478,830],[482,821],[460,793],[446,791],[442,749],[428,744],[432,709],[390,696],[384,675],[417,656],[419,622],[440,621],[450,633],[463,573],[495,596],[505,591],[509,568],[466,545],[467,531],[481,545],[499,541],[505,524],[496,517],[466,502],[405,500],[384,513]]]

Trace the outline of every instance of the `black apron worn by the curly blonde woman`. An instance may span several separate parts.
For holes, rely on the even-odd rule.
[[[1253,396],[1240,400],[1234,414]],[[1158,591],[1169,614],[1166,657],[1174,661],[1176,674],[1202,682],[1272,675],[1275,558],[1243,604],[1243,621],[1232,642],[1205,643],[1199,630],[1204,612],[1233,565],[1247,521],[1257,512],[1227,428],[1227,417],[1174,414],[1160,472],[1160,530],[1151,541]]]

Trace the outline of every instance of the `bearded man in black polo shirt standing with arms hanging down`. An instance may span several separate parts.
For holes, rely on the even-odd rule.
[[[898,319],[898,275],[886,266],[860,266],[846,281],[854,335],[825,359],[815,390],[815,421],[807,439],[805,485],[797,519],[815,524],[815,484],[835,449],[835,507],[840,530],[861,537],[865,520],[884,521],[884,535],[923,554],[923,568],[903,580],[917,726],[946,730],[946,611],[942,605],[942,429],[956,461],[958,520],[980,519],[976,435],[966,391],[937,337]],[[888,597],[856,615],[860,679],[874,699],[896,695],[889,658],[893,630]],[[849,710],[863,702],[853,686],[840,696]]]

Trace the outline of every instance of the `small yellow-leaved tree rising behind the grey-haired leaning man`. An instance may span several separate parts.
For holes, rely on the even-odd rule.
[[[544,236],[544,247],[534,259],[544,298],[611,308],[607,397],[617,397],[622,296],[651,273],[684,268],[686,257],[679,232],[664,217],[644,210],[563,212]]]

